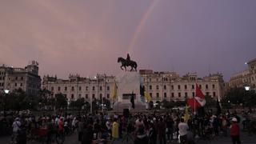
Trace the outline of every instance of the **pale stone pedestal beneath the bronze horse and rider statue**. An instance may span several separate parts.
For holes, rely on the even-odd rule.
[[[118,98],[114,102],[113,110],[122,111],[123,109],[133,110],[146,110],[146,102],[142,102],[140,96],[140,85],[142,84],[142,77],[137,72],[126,72],[116,76],[115,81],[118,86]],[[131,107],[130,96],[134,94],[135,108]]]

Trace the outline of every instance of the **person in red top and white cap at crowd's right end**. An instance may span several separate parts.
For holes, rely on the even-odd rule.
[[[237,118],[232,118],[232,123],[230,126],[230,136],[232,138],[233,144],[240,144],[240,128],[238,126],[238,119]]]

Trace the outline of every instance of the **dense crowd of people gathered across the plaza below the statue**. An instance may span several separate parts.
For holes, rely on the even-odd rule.
[[[77,134],[81,144],[126,142],[135,144],[156,144],[166,142],[194,143],[195,138],[211,140],[214,136],[228,136],[233,143],[240,143],[238,123],[246,129],[250,116],[244,112],[238,114],[227,111],[225,114],[213,114],[209,110],[204,115],[190,114],[170,110],[151,111],[147,114],[8,114],[0,118],[0,134],[12,134],[11,142],[45,141],[62,143],[70,134]],[[10,132],[11,129],[11,132]],[[127,138],[129,137],[129,138]],[[127,138],[127,139],[126,139]]]

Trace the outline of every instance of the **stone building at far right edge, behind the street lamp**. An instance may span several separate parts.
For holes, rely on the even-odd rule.
[[[233,74],[230,77],[230,81],[226,83],[227,90],[244,86],[256,89],[256,58],[246,62],[246,64],[248,66],[247,70]]]

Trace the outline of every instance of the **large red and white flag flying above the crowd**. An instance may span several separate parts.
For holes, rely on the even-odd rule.
[[[195,87],[195,97],[189,98],[187,103],[194,110],[197,110],[199,107],[206,105],[206,98],[202,94],[202,91],[200,90],[198,84],[196,84],[196,87]]]

